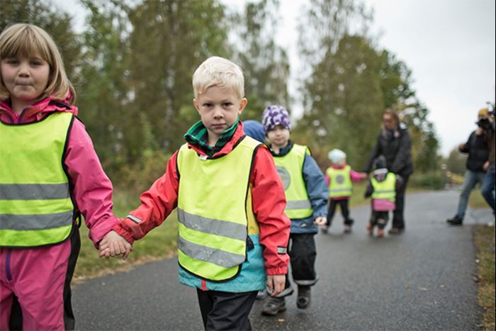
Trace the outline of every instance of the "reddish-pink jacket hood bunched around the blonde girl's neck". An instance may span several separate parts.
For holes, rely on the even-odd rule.
[[[41,120],[55,111],[67,111],[77,116],[77,107],[69,106],[68,99],[69,97],[65,100],[53,99],[49,96],[24,108],[19,114],[14,113],[7,101],[0,101],[0,120],[4,123],[31,123]]]

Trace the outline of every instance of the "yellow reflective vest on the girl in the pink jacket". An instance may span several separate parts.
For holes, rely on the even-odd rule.
[[[0,123],[0,247],[62,242],[74,224],[63,160],[72,113]]]

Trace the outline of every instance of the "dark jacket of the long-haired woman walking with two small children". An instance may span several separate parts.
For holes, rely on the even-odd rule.
[[[405,125],[400,126],[392,133],[382,130],[377,138],[376,147],[373,148],[371,158],[365,167],[365,172],[370,173],[376,157],[384,155],[386,167],[390,172],[402,177],[410,176],[413,172],[412,140],[408,135]]]

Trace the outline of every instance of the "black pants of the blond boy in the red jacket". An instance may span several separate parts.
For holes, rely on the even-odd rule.
[[[249,312],[257,291],[230,293],[196,288],[205,330],[252,330]]]

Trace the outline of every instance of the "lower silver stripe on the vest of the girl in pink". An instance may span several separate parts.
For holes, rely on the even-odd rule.
[[[44,230],[72,224],[72,211],[57,214],[0,214],[0,230]]]

